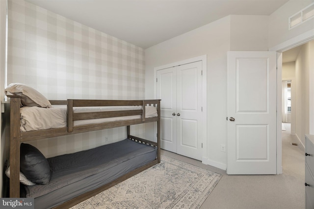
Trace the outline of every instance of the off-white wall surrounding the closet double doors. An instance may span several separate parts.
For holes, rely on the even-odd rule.
[[[226,153],[220,151],[220,145],[227,143],[227,51],[266,50],[267,25],[267,16],[231,15],[145,50],[146,98],[154,96],[155,67],[207,54],[210,165],[225,169],[227,163]]]

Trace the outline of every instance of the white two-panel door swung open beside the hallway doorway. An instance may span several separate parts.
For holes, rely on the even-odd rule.
[[[276,52],[228,52],[227,174],[276,174]]]

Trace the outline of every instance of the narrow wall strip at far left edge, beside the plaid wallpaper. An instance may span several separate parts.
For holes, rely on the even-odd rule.
[[[0,103],[4,97],[4,69],[6,63],[5,48],[6,48],[6,14],[7,14],[7,2],[6,0],[0,0]],[[3,69],[3,70],[2,70]],[[5,161],[5,137],[2,129],[2,113],[0,115],[0,197],[2,197],[2,168]]]

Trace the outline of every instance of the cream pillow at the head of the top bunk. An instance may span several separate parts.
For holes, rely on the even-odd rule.
[[[8,92],[13,95],[21,96],[23,106],[52,108],[50,101],[43,94],[25,84],[12,83],[5,88],[5,95],[7,95]]]

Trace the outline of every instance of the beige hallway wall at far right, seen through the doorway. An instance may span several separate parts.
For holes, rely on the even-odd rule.
[[[305,134],[310,134],[310,118],[313,115],[313,106],[310,108],[310,100],[314,97],[313,68],[314,41],[301,47],[300,53],[295,61],[295,80],[296,80],[296,136],[305,145]],[[312,67],[311,67],[312,66]],[[310,95],[310,93],[312,95]],[[313,134],[313,133],[311,133]]]

